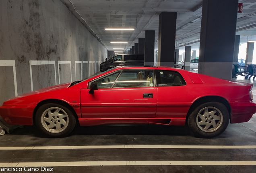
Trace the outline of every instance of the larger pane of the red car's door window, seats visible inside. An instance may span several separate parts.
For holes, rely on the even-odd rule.
[[[153,70],[124,70],[116,80],[113,88],[153,86]]]

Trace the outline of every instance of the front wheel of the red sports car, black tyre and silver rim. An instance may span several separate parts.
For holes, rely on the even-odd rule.
[[[47,103],[37,110],[35,124],[47,137],[64,137],[74,129],[76,119],[72,111],[65,106]]]

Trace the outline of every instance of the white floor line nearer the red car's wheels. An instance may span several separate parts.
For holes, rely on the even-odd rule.
[[[256,145],[88,145],[46,147],[0,147],[0,150],[41,149],[256,149]]]

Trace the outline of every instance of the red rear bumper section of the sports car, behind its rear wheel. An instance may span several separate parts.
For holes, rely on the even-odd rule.
[[[234,102],[231,106],[230,123],[244,123],[256,113],[256,104],[253,102]]]

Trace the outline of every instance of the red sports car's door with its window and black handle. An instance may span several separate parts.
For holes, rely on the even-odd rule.
[[[157,87],[153,70],[119,70],[89,82],[98,90],[81,89],[82,118],[155,117]]]

